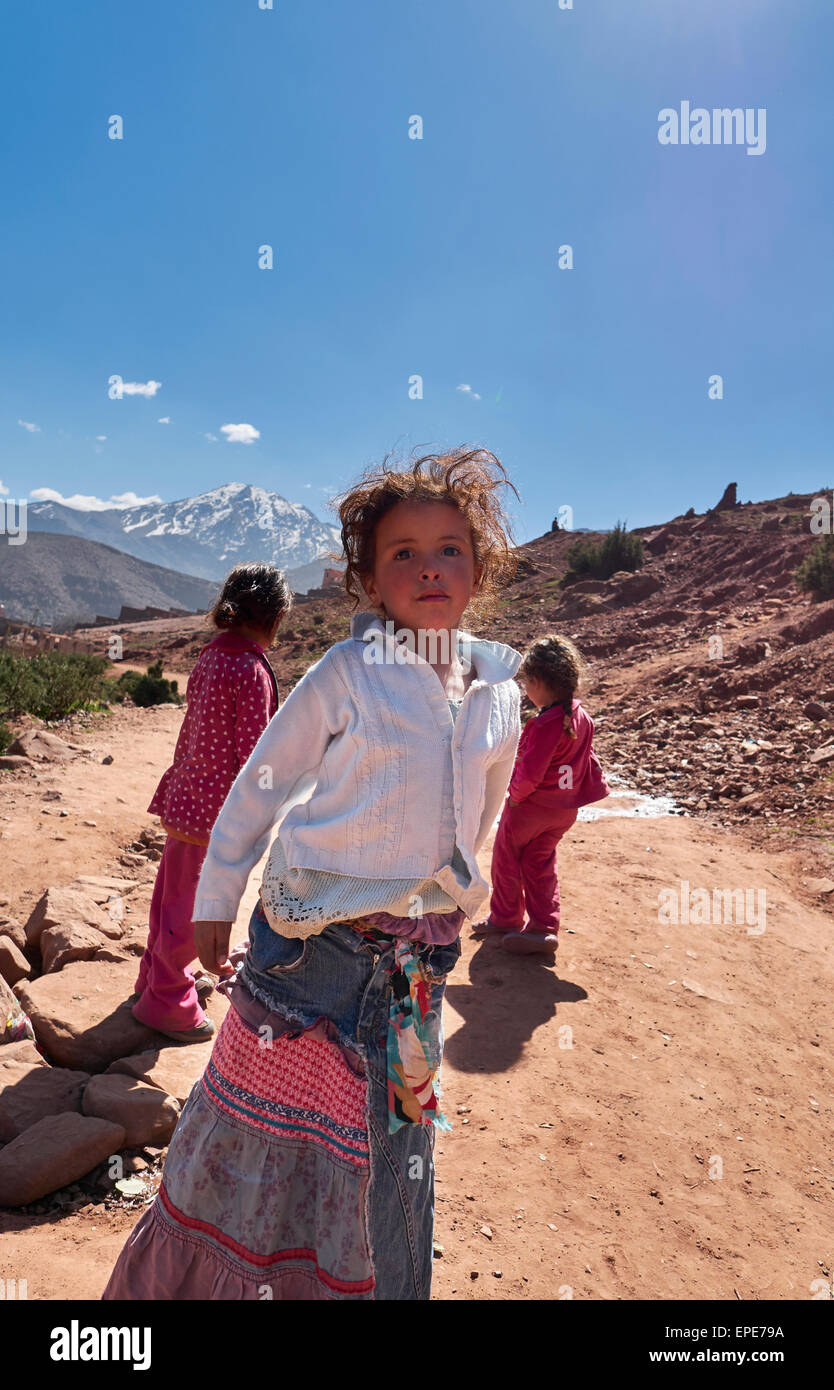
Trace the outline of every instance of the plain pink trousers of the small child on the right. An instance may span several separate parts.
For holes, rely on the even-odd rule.
[[[559,933],[556,845],[577,815],[531,801],[505,805],[492,848],[489,920],[496,927]]]

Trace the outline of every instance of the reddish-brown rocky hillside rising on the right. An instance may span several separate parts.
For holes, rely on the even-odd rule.
[[[834,827],[834,602],[798,592],[810,493],[642,528],[645,563],[559,588],[570,534],[524,546],[493,635],[557,631],[589,662],[605,766],[688,812]]]

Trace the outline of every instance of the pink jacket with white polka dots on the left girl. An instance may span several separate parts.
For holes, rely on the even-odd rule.
[[[147,809],[177,840],[207,845],[238,771],[278,709],[278,682],[257,642],[228,631],[200,652],[186,698],[174,762]]]

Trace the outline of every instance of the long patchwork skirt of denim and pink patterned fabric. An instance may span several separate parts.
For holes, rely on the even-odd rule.
[[[435,1126],[389,1133],[399,938],[377,935],[334,922],[281,937],[256,906],[160,1190],[103,1298],[430,1298]],[[409,947],[439,1059],[460,938]]]

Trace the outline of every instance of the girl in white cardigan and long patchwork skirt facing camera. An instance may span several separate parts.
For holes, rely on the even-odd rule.
[[[474,449],[385,460],[341,502],[346,589],[375,613],[295,687],[211,834],[196,938],[231,974],[281,821],[232,1006],[104,1298],[431,1294],[441,1009],[520,735],[520,653],[457,631],[516,567],[495,470]]]

